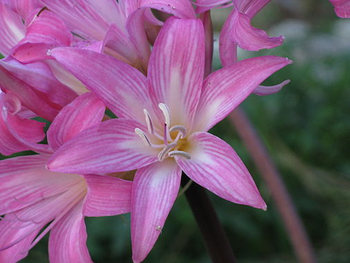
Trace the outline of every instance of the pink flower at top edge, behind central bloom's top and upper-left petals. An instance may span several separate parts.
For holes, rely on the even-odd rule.
[[[117,57],[143,72],[147,72],[151,52],[147,38],[154,38],[158,31],[154,26],[163,24],[152,15],[150,8],[176,17],[195,18],[188,0],[106,0],[103,4],[95,0],[42,2],[79,36],[75,41],[98,42],[100,52]]]

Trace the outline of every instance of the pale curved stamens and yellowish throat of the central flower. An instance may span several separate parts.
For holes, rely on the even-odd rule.
[[[154,127],[153,120],[147,109],[143,109],[147,123],[147,134],[142,129],[136,128],[135,132],[140,136],[145,145],[161,149],[158,160],[163,161],[167,157],[182,156],[190,159],[191,156],[183,149],[187,147],[187,129],[182,125],[170,125],[170,111],[165,103],[159,103],[159,109],[163,111],[165,123],[163,133],[158,134]]]

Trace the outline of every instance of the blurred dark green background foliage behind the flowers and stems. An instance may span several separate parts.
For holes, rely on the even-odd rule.
[[[228,12],[212,12],[217,30]],[[280,0],[268,4],[253,25],[284,35],[284,44],[258,53],[240,51],[240,57],[289,57],[294,64],[264,84],[292,81],[272,96],[250,96],[242,107],[286,182],[319,262],[350,262],[350,19],[336,17],[326,0]],[[214,67],[220,67],[217,54]],[[223,120],[212,133],[236,149],[268,204],[264,212],[210,193],[237,259],[297,262],[270,192],[232,125]],[[129,215],[86,218],[94,262],[132,262],[129,221]],[[48,262],[47,237],[21,262]],[[184,195],[147,262],[210,262]]]

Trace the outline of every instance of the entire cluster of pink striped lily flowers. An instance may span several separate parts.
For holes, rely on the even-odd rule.
[[[0,161],[0,262],[26,257],[48,232],[50,262],[92,262],[84,217],[126,212],[142,262],[183,172],[265,210],[239,156],[208,131],[251,93],[288,82],[259,85],[291,60],[237,59],[238,47],[282,44],[250,24],[268,2],[1,0],[0,153],[37,154]],[[348,17],[349,1],[332,3]],[[223,69],[211,73],[210,9],[227,6]]]

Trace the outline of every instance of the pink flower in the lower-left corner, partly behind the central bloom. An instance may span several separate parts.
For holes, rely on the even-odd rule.
[[[51,152],[100,123],[103,115],[103,103],[91,93],[64,107],[48,130]],[[85,244],[84,216],[119,215],[130,210],[131,182],[95,174],[50,172],[46,169],[48,158],[50,154],[38,154],[0,161],[0,215],[5,215],[0,221],[0,262],[26,257],[49,231],[51,263],[92,262]]]

